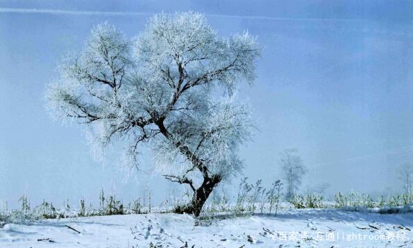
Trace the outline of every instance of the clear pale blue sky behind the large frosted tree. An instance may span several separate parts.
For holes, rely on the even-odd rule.
[[[93,160],[81,129],[52,122],[43,97],[92,26],[107,20],[133,37],[151,15],[177,10],[205,13],[219,35],[248,30],[264,47],[255,86],[240,93],[260,129],[242,149],[246,176],[280,178],[279,152],[296,147],[303,189],[400,188],[391,170],[413,160],[410,1],[0,1],[0,204],[179,189],[155,174],[126,181],[117,151]]]

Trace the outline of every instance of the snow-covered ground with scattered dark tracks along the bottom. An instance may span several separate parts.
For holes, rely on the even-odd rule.
[[[413,213],[305,209],[203,221],[176,214],[112,215],[5,224],[0,247],[413,247],[410,230]]]

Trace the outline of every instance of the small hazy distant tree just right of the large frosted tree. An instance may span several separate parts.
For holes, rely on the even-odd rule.
[[[301,160],[297,152],[297,149],[285,149],[280,154],[280,165],[287,182],[285,185],[287,190],[285,197],[287,199],[294,197],[306,172],[303,160]]]

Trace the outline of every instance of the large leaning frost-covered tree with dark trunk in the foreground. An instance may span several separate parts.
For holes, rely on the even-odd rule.
[[[233,93],[253,83],[259,55],[251,35],[219,38],[198,13],[155,15],[132,40],[104,23],[62,61],[47,99],[53,116],[76,119],[103,147],[127,142],[129,165],[149,145],[158,172],[194,192],[183,212],[199,215],[212,189],[243,167],[237,151],[253,121]]]

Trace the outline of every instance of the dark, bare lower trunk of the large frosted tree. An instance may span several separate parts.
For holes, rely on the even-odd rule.
[[[201,214],[205,201],[220,181],[221,176],[219,175],[214,175],[212,178],[204,178],[202,185],[194,191],[191,202],[183,208],[183,213],[194,214],[198,217]]]

